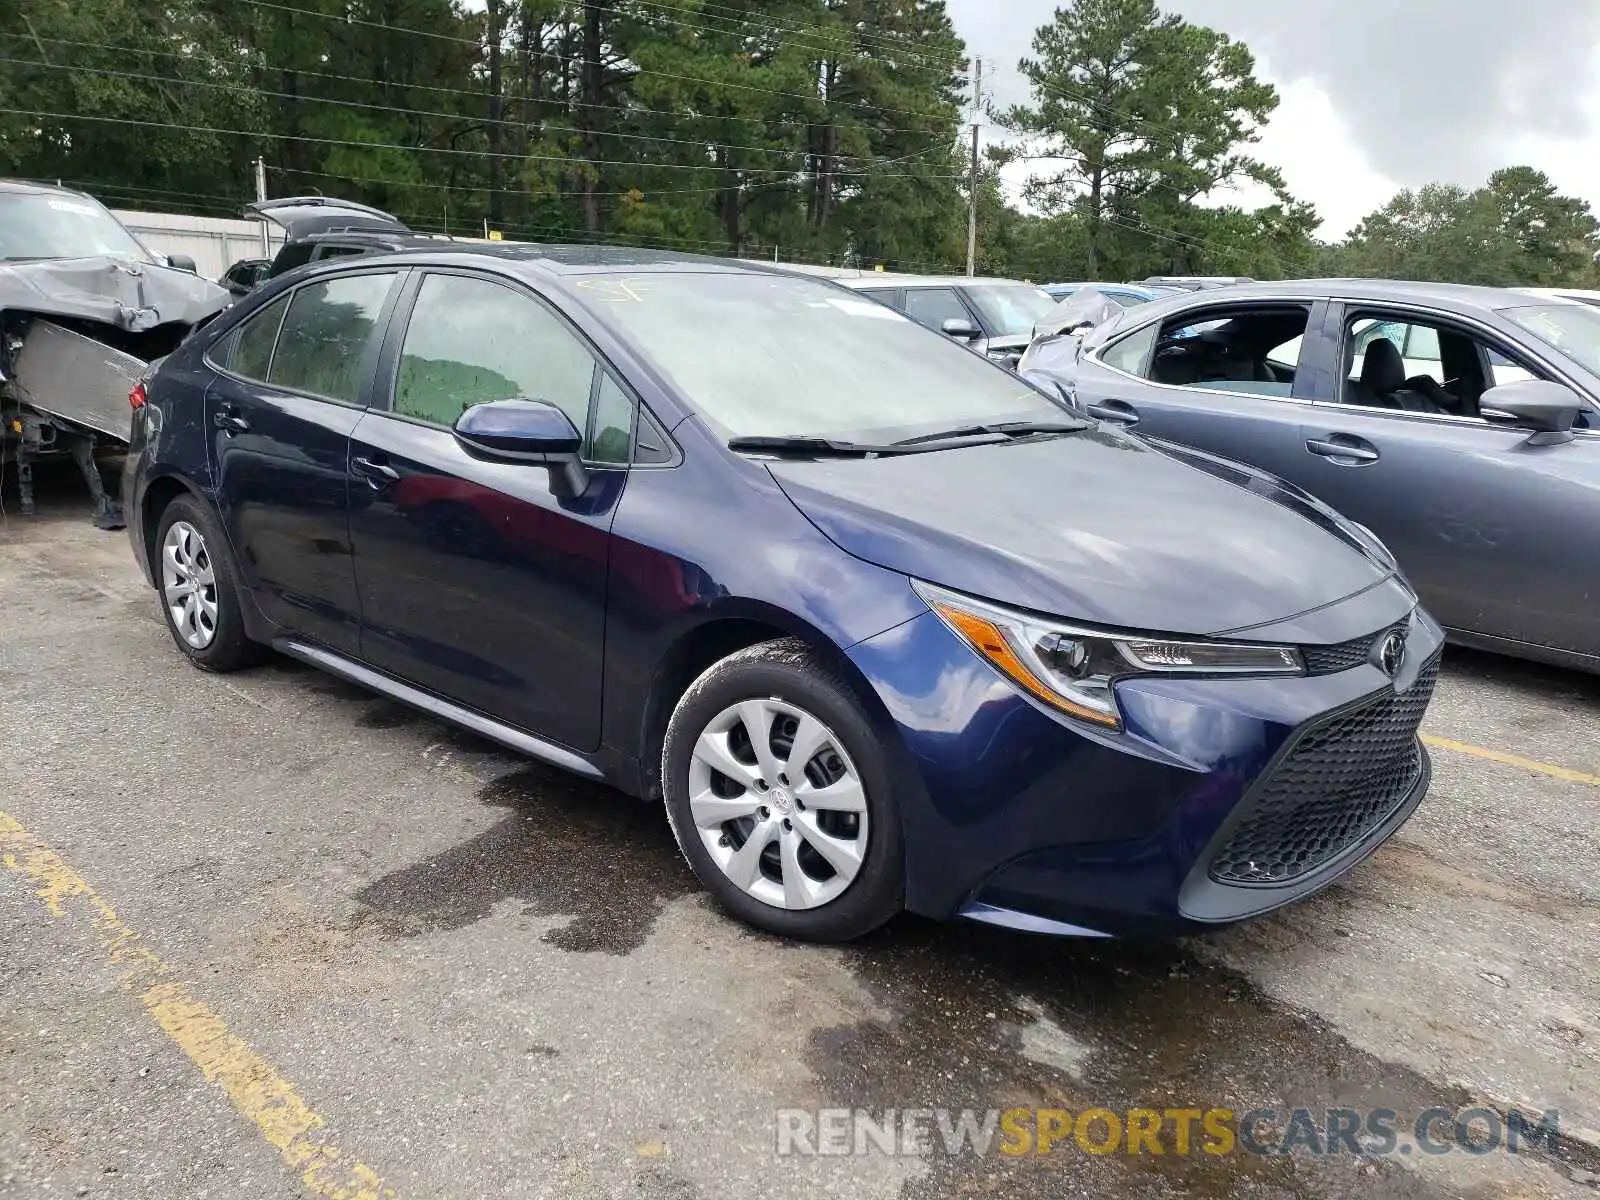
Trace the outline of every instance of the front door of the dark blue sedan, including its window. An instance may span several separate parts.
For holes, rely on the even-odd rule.
[[[600,742],[610,530],[634,403],[549,306],[488,277],[413,285],[382,374],[387,408],[350,438],[362,658],[576,750]],[[531,462],[469,453],[472,405],[557,405],[586,432],[589,483],[560,494]]]

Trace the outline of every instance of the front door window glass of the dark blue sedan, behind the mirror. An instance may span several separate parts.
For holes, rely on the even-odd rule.
[[[394,411],[453,426],[474,405],[544,400],[589,426],[595,360],[538,301],[470,275],[427,275],[416,296]]]

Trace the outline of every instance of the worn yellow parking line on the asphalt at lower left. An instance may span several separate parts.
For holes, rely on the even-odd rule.
[[[323,1200],[394,1200],[378,1173],[317,1136],[325,1122],[272,1066],[173,978],[173,968],[122,923],[66,861],[14,818],[0,813],[0,864],[32,883],[51,917],[88,926],[106,958],[122,968],[123,990],[144,1002],[155,1022],[216,1083],[293,1168],[310,1195]]]

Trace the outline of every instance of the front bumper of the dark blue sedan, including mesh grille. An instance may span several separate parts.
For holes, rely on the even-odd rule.
[[[1410,621],[1394,678],[1142,677],[1123,730],[1021,696],[933,614],[851,650],[909,750],[907,907],[1048,933],[1213,928],[1302,899],[1373,853],[1427,792],[1416,725],[1443,632]],[[1331,614],[1325,640],[1349,635]],[[1341,624],[1342,622],[1342,624]],[[1392,768],[1392,770],[1390,770]]]

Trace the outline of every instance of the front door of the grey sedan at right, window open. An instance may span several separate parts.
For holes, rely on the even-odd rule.
[[[1355,304],[1336,309],[1333,325],[1344,368],[1322,376],[1320,403],[1304,410],[1299,453],[1282,474],[1382,538],[1445,626],[1594,653],[1600,432],[1541,445],[1475,416],[1496,382],[1546,374],[1486,330]],[[1346,403],[1374,331],[1402,349],[1416,379],[1442,389],[1432,395],[1464,411]]]

